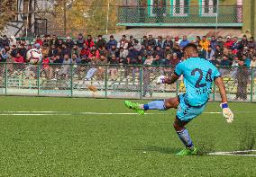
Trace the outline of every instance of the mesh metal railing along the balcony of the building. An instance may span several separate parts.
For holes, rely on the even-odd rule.
[[[175,26],[215,26],[218,23],[218,26],[239,26],[242,25],[242,6],[121,6],[118,9],[118,21],[144,25],[168,23]]]

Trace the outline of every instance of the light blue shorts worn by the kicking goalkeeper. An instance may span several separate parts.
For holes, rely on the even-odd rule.
[[[190,106],[185,102],[184,96],[185,94],[180,94],[178,96],[179,104],[176,117],[181,121],[188,122],[199,116],[205,110],[206,103],[202,106],[197,107]]]

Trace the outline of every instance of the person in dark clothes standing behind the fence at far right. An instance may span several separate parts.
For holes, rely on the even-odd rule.
[[[237,68],[237,93],[236,99],[246,101],[247,99],[247,82],[249,78],[249,71],[246,67],[244,60],[241,59],[238,62],[239,67]]]

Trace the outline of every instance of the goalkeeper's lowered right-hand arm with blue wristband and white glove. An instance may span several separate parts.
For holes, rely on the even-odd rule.
[[[233,121],[233,112],[228,108],[223,78],[222,77],[216,78],[215,84],[218,86],[221,97],[222,97],[221,108],[223,109],[224,118],[228,123],[231,123]]]

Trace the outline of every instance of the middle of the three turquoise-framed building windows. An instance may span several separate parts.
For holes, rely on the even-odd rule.
[[[188,16],[189,0],[170,0],[171,16]]]

